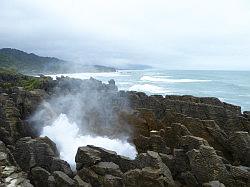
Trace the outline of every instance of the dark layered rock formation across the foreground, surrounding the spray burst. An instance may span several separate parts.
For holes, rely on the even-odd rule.
[[[250,114],[217,98],[148,96],[118,91],[114,81],[0,76],[0,186],[250,186]],[[36,82],[34,84],[34,82]],[[25,83],[25,84],[24,84]],[[76,170],[60,159],[57,145],[39,137],[29,120],[58,93],[98,90],[118,119],[98,112],[95,133],[128,135],[134,160],[93,145],[79,147]],[[90,97],[95,97],[89,93]],[[94,98],[95,99],[95,98]],[[105,105],[106,106],[106,105]],[[93,115],[94,114],[94,115]],[[101,126],[102,127],[102,126]]]

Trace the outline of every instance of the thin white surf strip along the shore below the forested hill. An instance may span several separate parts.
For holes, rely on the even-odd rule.
[[[99,78],[99,77],[107,77],[107,78],[112,78],[112,77],[128,77],[130,75],[127,74],[122,74],[120,72],[105,72],[105,73],[68,73],[68,74],[56,74],[56,75],[46,75],[50,76],[53,79],[56,79],[56,77],[70,77],[70,78],[75,78],[75,79],[89,79],[90,77],[93,78]]]

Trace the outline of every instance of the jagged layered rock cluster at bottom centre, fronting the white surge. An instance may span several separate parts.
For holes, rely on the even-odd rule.
[[[174,186],[171,171],[153,151],[135,160],[93,146],[80,147],[76,154],[77,174],[92,186]],[[126,168],[124,167],[126,165]]]

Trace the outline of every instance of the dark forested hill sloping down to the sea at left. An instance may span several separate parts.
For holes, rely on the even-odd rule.
[[[101,65],[70,63],[54,57],[41,57],[17,49],[0,49],[0,67],[15,69],[25,74],[54,74],[74,72],[112,72],[115,68]]]

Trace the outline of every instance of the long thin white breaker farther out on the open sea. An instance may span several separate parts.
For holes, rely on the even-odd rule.
[[[195,82],[211,81],[211,80],[200,80],[200,79],[168,79],[168,78],[161,78],[159,76],[142,76],[140,80],[151,81],[151,82],[165,82],[165,83],[195,83]]]

